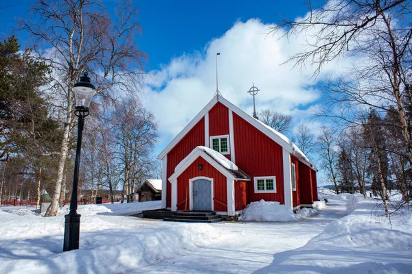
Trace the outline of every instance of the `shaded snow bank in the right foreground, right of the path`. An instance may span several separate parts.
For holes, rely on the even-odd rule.
[[[275,254],[277,264],[262,273],[411,273],[410,212],[404,209],[389,220],[376,212],[374,199],[336,196],[338,203],[347,201],[352,213],[330,223],[304,247]]]

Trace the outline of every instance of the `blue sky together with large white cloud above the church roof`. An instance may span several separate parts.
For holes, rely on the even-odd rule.
[[[115,1],[103,0],[109,12]],[[293,115],[294,127],[306,123],[313,132],[321,124],[311,119],[310,108],[321,103],[315,88],[345,67],[325,66],[317,79],[312,70],[282,66],[288,56],[301,51],[307,34],[279,39],[266,36],[279,15],[293,19],[304,16],[307,6],[297,1],[136,1],[143,35],[139,47],[149,56],[148,81],[144,103],[159,121],[157,155],[209,102],[216,90],[216,52],[219,57],[219,83],[222,95],[252,113],[252,98],[247,94],[252,82],[260,88],[257,110],[270,108]],[[324,5],[325,1],[315,2]],[[0,4],[0,38],[8,36],[16,21],[30,8],[28,1]],[[25,47],[25,34],[16,33]],[[291,136],[293,132],[289,132]]]

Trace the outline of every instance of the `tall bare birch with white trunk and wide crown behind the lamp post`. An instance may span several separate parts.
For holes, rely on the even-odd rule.
[[[73,84],[89,71],[97,92],[103,98],[113,90],[137,90],[146,54],[137,47],[140,33],[138,10],[131,1],[119,1],[115,18],[100,2],[89,0],[38,0],[30,18],[21,26],[30,34],[33,48],[52,66],[55,108],[62,127],[62,144],[52,204],[46,216],[56,216],[65,160],[69,151],[69,134],[73,127]]]

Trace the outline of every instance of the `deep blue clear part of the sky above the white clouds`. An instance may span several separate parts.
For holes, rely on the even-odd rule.
[[[323,4],[325,1],[316,1]],[[0,22],[3,40],[12,33],[17,21],[30,8],[32,1],[14,0],[0,3]],[[113,10],[114,0],[103,0]],[[295,18],[306,13],[303,0],[296,1],[135,1],[140,10],[139,23],[143,36],[139,46],[148,53],[147,71],[160,69],[171,58],[183,53],[202,50],[207,42],[230,29],[237,21],[259,18],[262,23],[273,23],[283,14]],[[25,40],[25,35],[16,33]],[[24,47],[24,44],[23,44]]]

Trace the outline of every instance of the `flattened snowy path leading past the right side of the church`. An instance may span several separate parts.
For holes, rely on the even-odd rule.
[[[253,273],[271,264],[275,253],[306,245],[330,222],[345,216],[345,204],[332,200],[320,214],[292,223],[213,224],[235,235],[132,273]]]

